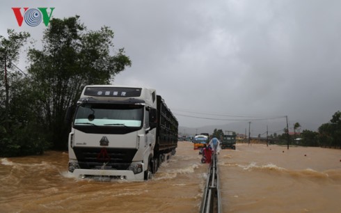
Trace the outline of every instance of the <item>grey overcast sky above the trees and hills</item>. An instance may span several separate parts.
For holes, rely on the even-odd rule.
[[[114,84],[157,89],[183,127],[288,116],[290,125],[316,130],[341,110],[341,1],[4,0],[0,6],[2,36],[15,29],[40,41],[46,29],[19,27],[13,7],[54,7],[52,17],[80,15],[90,30],[109,26],[116,48],[132,60]]]

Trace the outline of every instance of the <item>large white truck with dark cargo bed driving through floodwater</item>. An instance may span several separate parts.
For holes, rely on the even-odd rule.
[[[148,180],[175,155],[177,129],[154,89],[86,86],[72,118],[68,172],[101,181]]]

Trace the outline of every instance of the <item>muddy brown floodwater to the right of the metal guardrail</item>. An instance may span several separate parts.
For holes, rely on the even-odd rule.
[[[224,212],[341,212],[341,150],[241,144],[220,157]]]

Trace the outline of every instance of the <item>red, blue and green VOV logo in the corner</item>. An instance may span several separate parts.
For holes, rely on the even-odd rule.
[[[50,8],[51,12],[48,14],[47,8],[24,8],[24,13],[22,13],[21,9],[22,8],[12,8],[19,26],[22,26],[24,20],[29,26],[38,26],[42,21],[45,26],[47,26],[49,25],[49,20],[54,11],[54,8]]]

